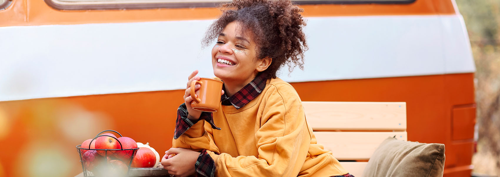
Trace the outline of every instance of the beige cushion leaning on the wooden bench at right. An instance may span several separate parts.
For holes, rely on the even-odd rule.
[[[373,152],[363,177],[442,176],[444,144],[385,139]]]

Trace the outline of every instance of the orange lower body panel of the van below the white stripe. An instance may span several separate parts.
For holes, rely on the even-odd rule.
[[[464,94],[473,92],[472,79],[472,73],[461,73],[291,84],[302,101],[405,101],[408,140],[444,143],[444,176],[458,176],[470,173],[464,166],[470,166],[473,139],[452,139],[451,114],[453,106],[474,102],[473,94]],[[162,152],[171,146],[183,92],[180,89],[2,101],[0,108],[12,121],[11,130],[0,143],[16,145],[2,147],[11,153],[0,153],[1,163],[7,169],[7,176],[26,176],[21,175],[25,168],[15,166],[25,164],[25,159],[19,158],[22,154],[32,156],[43,152],[28,148],[31,141],[38,139],[47,142],[45,146],[53,143],[67,147],[60,151],[72,160],[70,174],[75,175],[81,172],[81,166],[74,146],[104,128],[117,130],[137,142],[149,142]],[[69,110],[76,113],[62,113]],[[74,138],[67,128],[75,129],[82,137]],[[17,160],[7,162],[7,159]]]

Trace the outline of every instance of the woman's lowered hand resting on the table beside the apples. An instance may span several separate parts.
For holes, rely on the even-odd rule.
[[[194,163],[196,163],[199,154],[200,152],[191,149],[172,147],[165,151],[165,155],[161,158],[161,165],[168,170],[169,174],[180,177],[189,176],[196,172]]]

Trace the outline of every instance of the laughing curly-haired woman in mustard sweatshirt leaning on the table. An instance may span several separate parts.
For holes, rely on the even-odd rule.
[[[290,0],[234,0],[221,8],[204,38],[217,38],[211,55],[224,81],[221,105],[213,113],[192,109],[193,71],[164,168],[176,176],[351,176],[316,143],[297,92],[276,77],[281,66],[303,68],[302,9]]]

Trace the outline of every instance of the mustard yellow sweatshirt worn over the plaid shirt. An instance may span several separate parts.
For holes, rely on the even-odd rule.
[[[215,176],[347,173],[331,151],[316,143],[297,92],[279,78],[268,79],[262,92],[239,109],[220,104],[213,121],[220,130],[198,121],[172,146],[206,149],[215,161]]]

